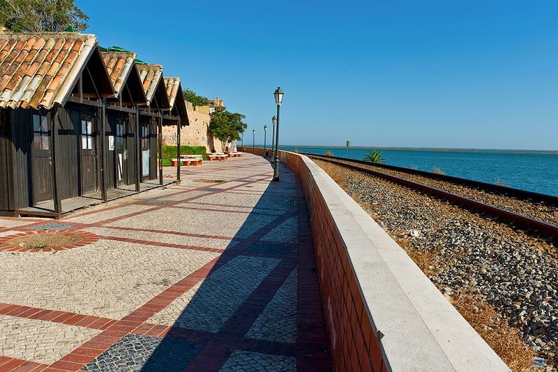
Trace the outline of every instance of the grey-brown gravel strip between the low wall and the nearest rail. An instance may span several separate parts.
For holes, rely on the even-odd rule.
[[[390,181],[338,170],[345,191],[395,241],[432,255],[425,274],[444,294],[474,292],[556,365],[558,254],[551,241]]]

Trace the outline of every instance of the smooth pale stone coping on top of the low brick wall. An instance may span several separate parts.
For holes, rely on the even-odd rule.
[[[294,153],[292,153],[294,154]],[[307,156],[347,249],[388,371],[509,371],[405,251]]]

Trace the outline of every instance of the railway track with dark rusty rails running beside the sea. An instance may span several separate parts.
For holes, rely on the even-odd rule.
[[[558,214],[558,198],[552,195],[523,191],[517,188],[487,184],[485,182],[472,181],[469,179],[461,179],[458,177],[446,176],[444,174],[410,170],[407,168],[395,167],[393,165],[377,165],[365,161],[356,161],[352,159],[338,158],[335,156],[321,156],[317,154],[304,155],[310,158],[317,158],[321,161],[340,165],[344,168],[368,174],[373,177],[380,177],[382,179],[422,191],[423,193],[435,195],[438,198],[449,200],[455,204],[467,207],[468,209],[480,211],[483,214],[487,214],[492,217],[502,218],[505,221],[513,223],[513,225],[517,227],[530,230],[538,233],[539,235],[550,237],[551,239],[558,241],[558,223],[555,222],[555,215]],[[427,184],[430,183],[430,181],[428,181],[430,179],[432,179],[432,183],[437,184],[437,186]],[[444,187],[444,183],[447,183],[448,187]],[[497,195],[497,198],[502,197],[509,199],[508,202],[505,203],[499,200],[499,202],[501,202],[500,204],[513,206],[513,203],[517,201],[518,203],[521,203],[521,207],[518,207],[518,209],[525,209],[525,205],[529,204],[531,204],[533,208],[532,211],[529,210],[530,216],[528,216],[525,213],[514,211],[513,207],[504,208],[490,202],[483,202],[477,198],[471,197],[470,195],[463,195],[463,192],[456,193],[448,191],[448,189],[453,188],[451,187],[452,185],[459,185],[460,188],[458,189],[460,191],[463,191],[462,187],[474,188],[475,190],[480,190],[483,193]],[[534,218],[537,211],[541,209],[541,205],[544,206],[543,209],[545,211],[550,210],[550,213],[545,213],[546,221]],[[553,213],[552,211],[556,212]]]

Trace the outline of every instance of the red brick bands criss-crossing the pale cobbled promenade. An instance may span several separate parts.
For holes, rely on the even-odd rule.
[[[234,163],[231,162],[231,163]],[[230,164],[230,163],[229,163]],[[236,165],[235,169],[253,168],[254,165],[261,165],[260,161],[254,161],[253,158],[246,159],[240,165]],[[187,174],[209,174],[212,172],[218,173],[223,170],[230,170],[231,167],[216,167],[202,170],[187,170]],[[207,176],[205,176],[207,177]],[[34,362],[27,362],[20,359],[13,359],[9,357],[0,356],[0,371],[77,371],[82,369],[86,364],[98,357],[100,354],[109,349],[112,345],[117,343],[126,334],[143,334],[155,337],[167,338],[180,338],[194,343],[205,343],[204,348],[195,357],[193,362],[188,366],[191,371],[218,371],[221,366],[227,361],[227,358],[234,350],[246,350],[250,352],[268,353],[273,355],[286,355],[296,357],[296,363],[299,371],[326,371],[329,366],[328,345],[324,334],[324,316],[322,314],[322,302],[319,296],[319,286],[317,271],[315,270],[315,259],[313,255],[312,234],[310,232],[310,221],[306,211],[306,206],[299,205],[298,207],[291,208],[283,214],[279,214],[276,218],[253,232],[249,237],[239,239],[237,237],[223,237],[220,235],[198,235],[186,232],[174,232],[160,229],[139,229],[139,228],[119,228],[114,226],[107,226],[107,223],[119,221],[124,218],[138,216],[140,214],[149,214],[150,211],[174,207],[176,204],[190,202],[198,205],[211,205],[211,210],[230,212],[226,209],[218,209],[218,207],[242,207],[234,204],[218,204],[218,203],[198,203],[197,199],[214,195],[217,193],[236,193],[236,190],[243,186],[257,183],[269,183],[271,180],[271,169],[267,172],[260,174],[250,174],[249,177],[244,179],[229,179],[220,183],[220,185],[227,184],[228,182],[241,182],[235,186],[225,188],[211,188],[211,186],[202,186],[195,188],[186,188],[181,186],[174,186],[172,191],[165,195],[165,198],[170,195],[184,195],[181,200],[168,202],[165,205],[154,206],[149,209],[142,209],[134,211],[130,214],[118,216],[114,218],[107,218],[97,223],[75,223],[72,222],[75,228],[64,230],[74,234],[89,234],[82,232],[84,228],[103,227],[115,230],[137,230],[142,232],[160,232],[170,235],[183,235],[188,237],[202,237],[209,239],[224,239],[236,240],[237,244],[232,248],[226,250],[202,247],[202,246],[186,246],[180,244],[166,244],[156,241],[144,241],[139,239],[128,239],[113,236],[102,236],[100,239],[111,239],[116,241],[126,241],[130,243],[139,243],[146,246],[165,246],[168,248],[191,249],[195,251],[211,251],[219,253],[217,258],[206,263],[203,267],[197,269],[192,274],[181,279],[174,285],[153,297],[144,305],[137,308],[135,311],[126,317],[116,320],[109,318],[100,318],[91,315],[82,315],[77,313],[68,313],[63,311],[53,311],[45,308],[35,308],[29,306],[20,306],[17,304],[0,304],[0,314],[11,315],[19,318],[29,318],[35,320],[43,320],[50,322],[59,322],[66,325],[79,325],[82,327],[100,329],[102,332],[94,336],[89,341],[86,341],[80,347],[76,348],[68,355],[62,357],[59,361],[54,362],[50,366],[45,364],[38,364]],[[188,196],[192,191],[204,191],[202,195]],[[261,192],[260,192],[261,193]],[[250,195],[257,195],[254,193],[247,193]],[[276,194],[281,195],[281,194]],[[303,197],[301,190],[297,195],[299,198]],[[163,198],[163,197],[158,197]],[[154,198],[156,199],[156,198]],[[75,218],[76,216],[86,216],[89,214],[96,214],[102,211],[109,211],[123,205],[142,204],[142,202],[120,203],[110,207],[100,207],[91,211],[86,211],[81,214],[75,214],[68,218]],[[201,209],[195,208],[193,209]],[[260,208],[258,209],[265,209]],[[270,208],[271,209],[271,208]],[[273,209],[271,209],[273,210]],[[236,212],[235,212],[236,213]],[[280,225],[292,216],[299,218],[299,243],[292,248],[292,250],[280,257],[280,262],[271,271],[271,273],[264,278],[264,281],[259,284],[257,289],[246,299],[243,304],[236,310],[234,316],[229,318],[225,325],[216,333],[206,332],[197,329],[184,329],[179,327],[168,327],[165,325],[149,324],[147,320],[154,314],[163,310],[166,306],[171,304],[177,297],[180,297],[188,290],[197,285],[204,278],[211,275],[216,269],[223,267],[229,260],[237,257],[238,255],[260,255],[266,257],[265,254],[247,253],[246,250],[255,244],[256,241],[266,236],[273,228]],[[14,228],[0,228],[2,230],[15,230],[25,231],[33,225],[40,225],[44,223],[43,219],[26,219],[31,222],[30,224],[22,225]],[[216,229],[218,231],[218,229]],[[24,232],[28,234],[29,232]],[[31,232],[36,233],[36,232]],[[93,235],[93,234],[91,234]],[[96,235],[93,235],[96,237]],[[13,239],[14,236],[9,237]],[[89,239],[89,238],[88,238]],[[98,237],[96,237],[98,239]],[[1,240],[0,240],[1,241]],[[89,241],[89,240],[87,240]],[[89,244],[89,243],[87,243]],[[146,247],[147,248],[147,247]],[[43,250],[44,251],[44,250]],[[269,255],[278,258],[277,255]],[[252,323],[257,319],[258,315],[276,294],[278,288],[285,281],[294,267],[298,267],[298,307],[297,307],[297,334],[298,339],[296,343],[282,343],[275,341],[266,341],[260,339],[246,338],[245,334],[250,329]]]

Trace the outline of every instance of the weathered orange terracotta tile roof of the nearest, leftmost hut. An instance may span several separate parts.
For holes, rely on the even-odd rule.
[[[0,107],[62,105],[96,50],[91,34],[0,34]]]

